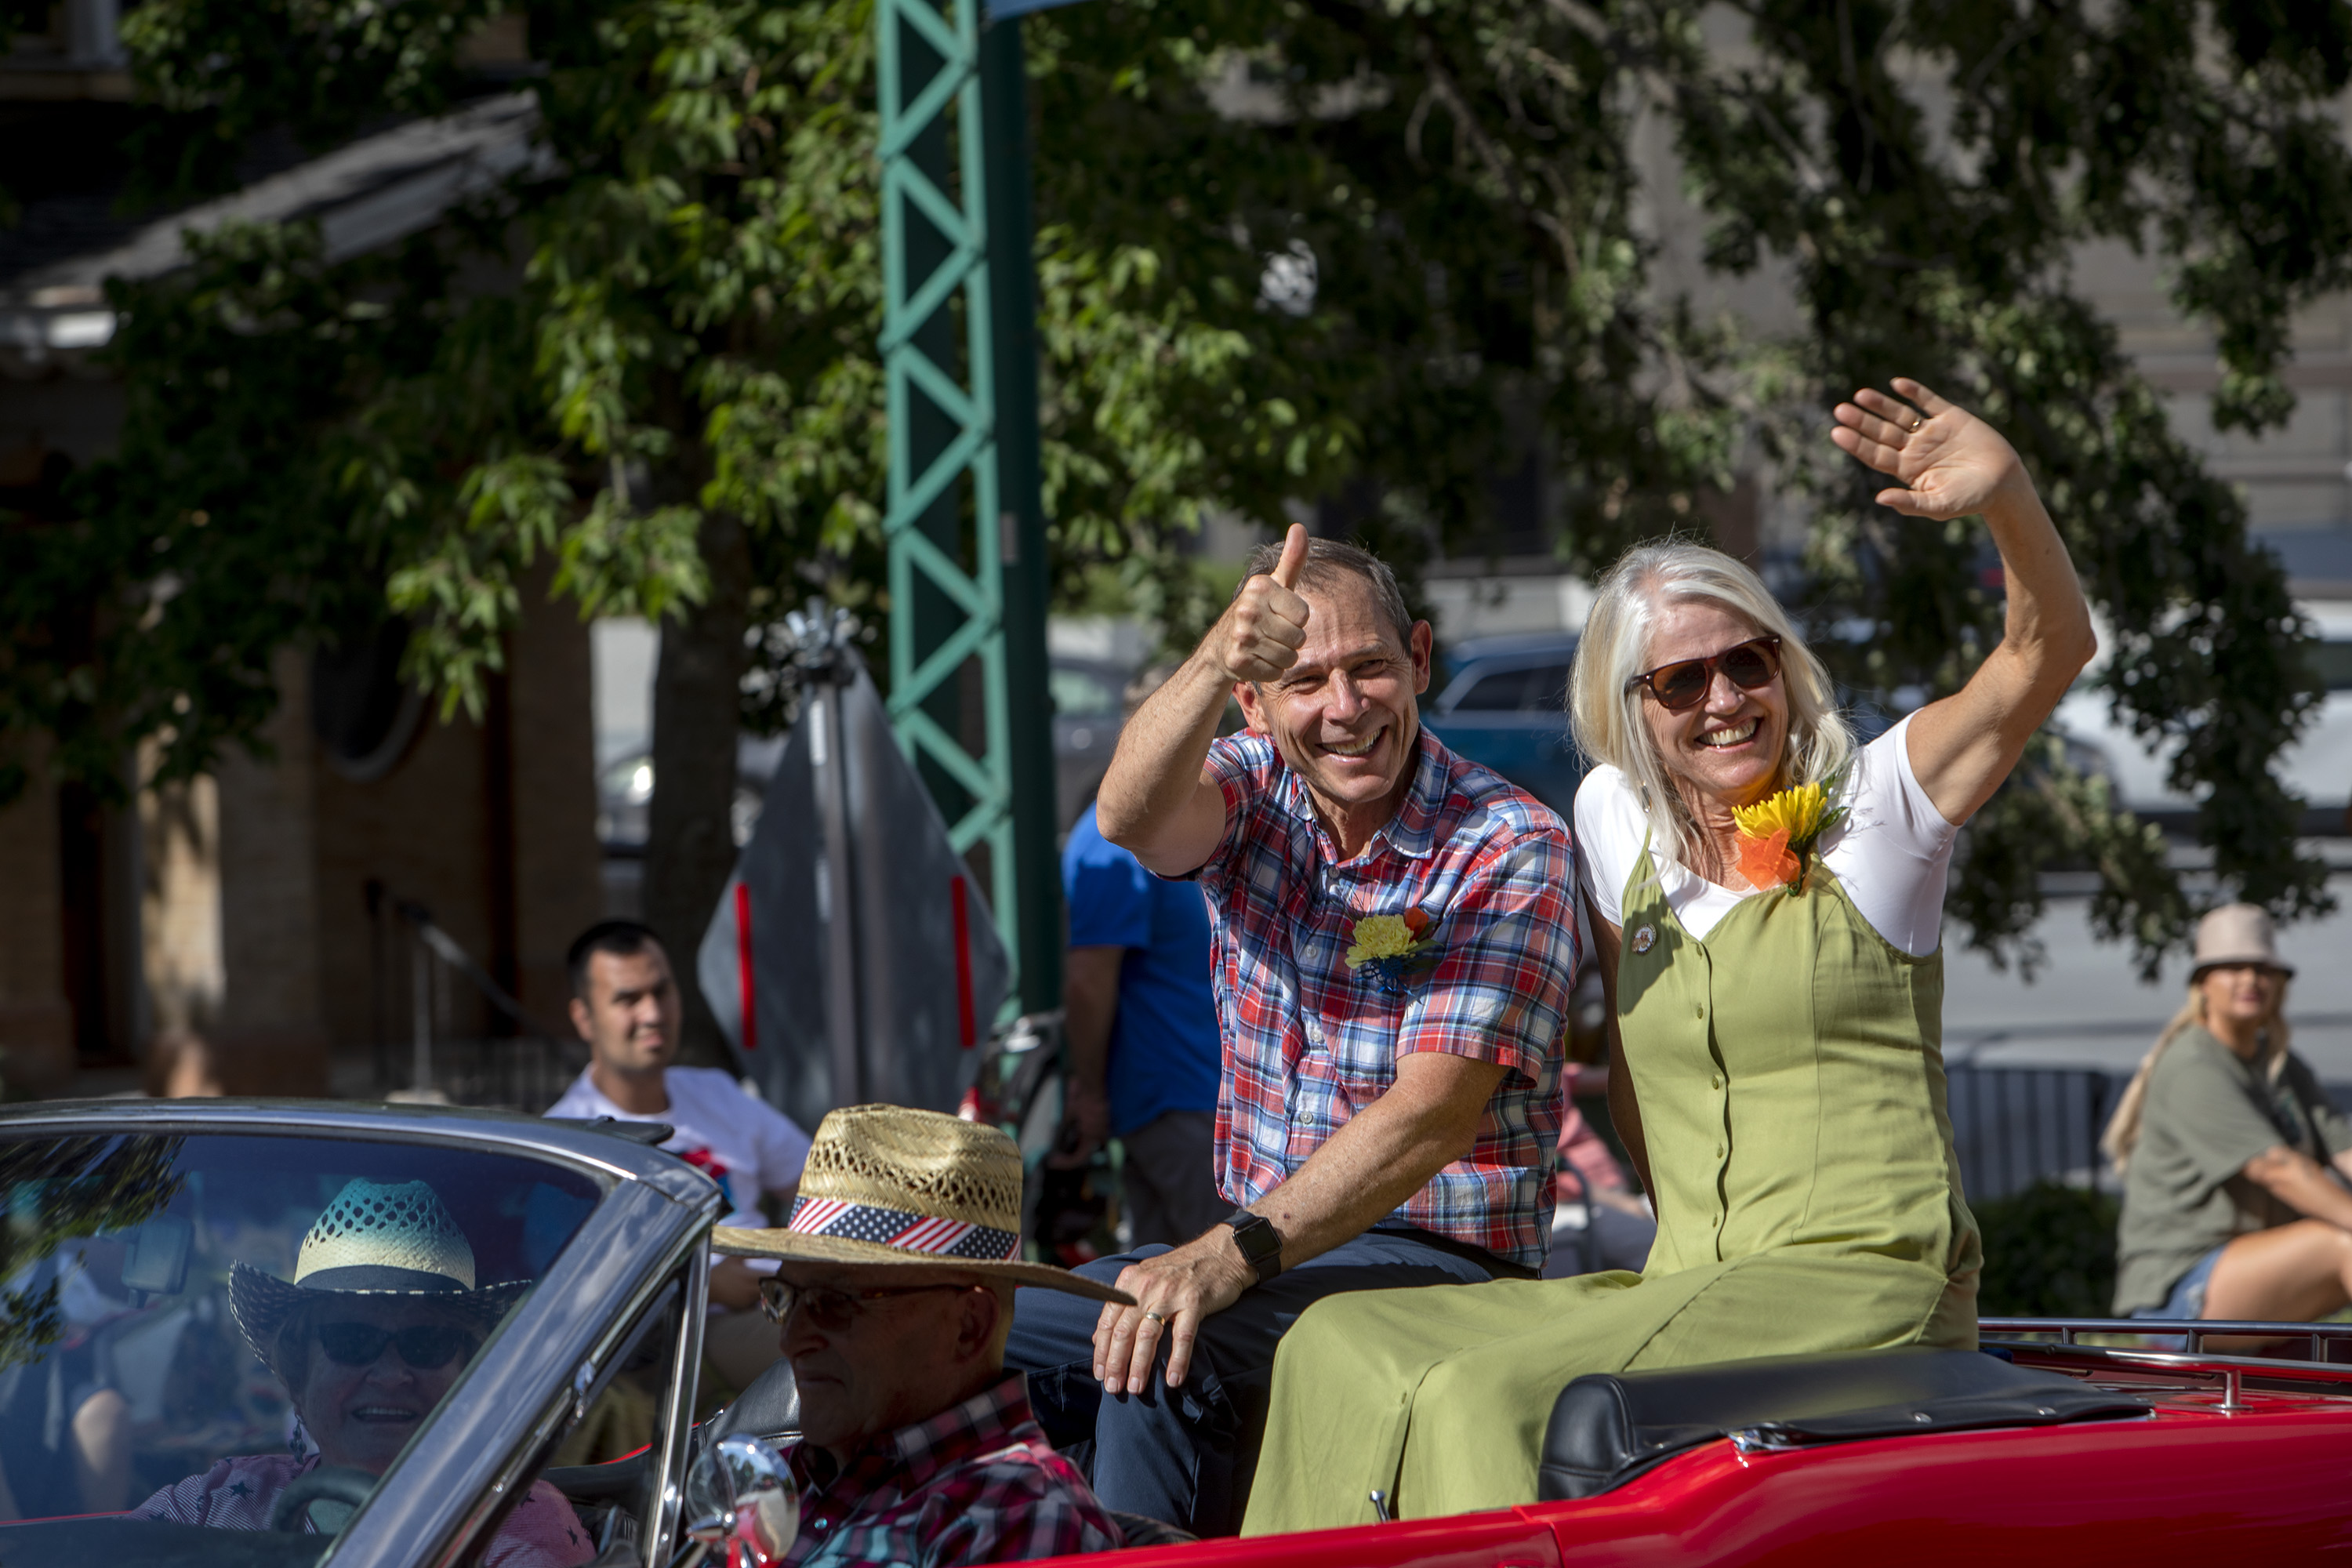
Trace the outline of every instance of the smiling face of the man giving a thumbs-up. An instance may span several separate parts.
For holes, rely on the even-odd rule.
[[[1399,639],[1355,571],[1310,571],[1298,597],[1308,602],[1298,663],[1279,679],[1235,686],[1235,698],[1355,856],[1411,788],[1430,623],[1416,621]]]

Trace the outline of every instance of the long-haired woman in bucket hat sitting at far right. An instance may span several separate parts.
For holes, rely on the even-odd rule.
[[[2197,922],[2190,994],[2131,1079],[2103,1147],[2124,1175],[2114,1309],[2310,1321],[2352,1300],[2352,1121],[2288,1051],[2270,914]]]

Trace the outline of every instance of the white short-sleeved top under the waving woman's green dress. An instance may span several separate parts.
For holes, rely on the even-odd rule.
[[[1919,788],[1907,733],[1910,715],[1853,755],[1846,820],[1823,835],[1820,860],[1872,931],[1924,959],[1943,940],[1943,884],[1959,827],[1943,820]],[[1576,879],[1611,926],[1625,924],[1621,900],[1646,839],[1649,816],[1625,773],[1613,766],[1585,773],[1576,790]],[[1665,905],[1693,938],[1705,940],[1740,898],[1755,898],[1755,891],[1733,893],[1668,860],[1668,849],[1651,842],[1651,860]]]

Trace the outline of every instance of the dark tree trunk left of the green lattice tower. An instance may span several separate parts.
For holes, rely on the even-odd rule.
[[[661,933],[687,997],[682,1063],[727,1067],[717,1020],[694,980],[694,952],[734,870],[736,729],[750,548],[741,520],[708,512],[710,597],[661,625],[654,670],[654,799],[644,844],[644,922]]]

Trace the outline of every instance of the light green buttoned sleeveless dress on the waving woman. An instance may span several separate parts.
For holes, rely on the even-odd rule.
[[[1943,952],[1912,957],[1818,863],[1696,940],[1649,849],[1618,1027],[1658,1241],[1642,1274],[1362,1291],[1275,1359],[1244,1535],[1536,1500],[1571,1378],[1748,1356],[1976,1347],[1976,1220],[1943,1077]]]

